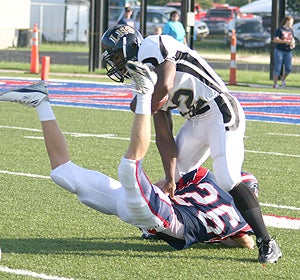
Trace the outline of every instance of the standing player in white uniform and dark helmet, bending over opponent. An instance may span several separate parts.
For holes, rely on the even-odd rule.
[[[244,219],[252,227],[259,249],[259,262],[275,262],[281,253],[264,224],[257,197],[245,187],[245,115],[221,78],[194,50],[167,35],[143,39],[129,26],[108,29],[101,40],[107,75],[118,82],[130,78],[127,61],[142,62],[140,78],[131,77],[136,89],[157,74],[152,97],[156,143],[165,169],[165,193],[174,196],[178,178],[211,156],[218,185],[229,192]],[[143,67],[140,67],[141,69]],[[135,99],[131,104],[135,108]],[[171,110],[187,119],[176,136]]]

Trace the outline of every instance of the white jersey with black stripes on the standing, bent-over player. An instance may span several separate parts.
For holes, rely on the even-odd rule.
[[[189,119],[228,89],[222,79],[196,52],[167,35],[148,36],[139,47],[138,60],[154,67],[168,60],[176,65],[174,86],[162,110],[177,108]]]

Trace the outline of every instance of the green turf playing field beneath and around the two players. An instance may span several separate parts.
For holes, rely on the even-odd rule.
[[[257,250],[196,244],[175,251],[162,241],[142,240],[138,229],[87,208],[51,182],[34,109],[11,103],[0,108],[0,279],[34,279],[34,273],[57,280],[300,279],[299,230],[268,228],[283,258],[267,266],[257,263]],[[65,107],[54,112],[73,161],[117,178],[133,114]],[[175,117],[175,131],[182,121]],[[247,122],[244,170],[258,178],[260,201],[291,206],[262,206],[264,214],[300,216],[299,136],[297,125]],[[163,175],[154,143],[144,167],[152,180]]]

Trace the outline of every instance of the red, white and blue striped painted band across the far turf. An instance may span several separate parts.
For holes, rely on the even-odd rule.
[[[3,79],[0,83],[0,92],[32,82],[36,81]],[[132,94],[129,85],[51,81],[48,88],[52,104],[130,110]],[[300,124],[300,95],[265,92],[231,93],[241,102],[248,120]]]

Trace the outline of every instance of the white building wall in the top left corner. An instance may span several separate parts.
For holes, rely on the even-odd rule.
[[[0,49],[17,45],[18,30],[29,29],[30,0],[0,0]]]

